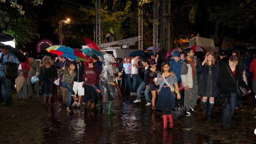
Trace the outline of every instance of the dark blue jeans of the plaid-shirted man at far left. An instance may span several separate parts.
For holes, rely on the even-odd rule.
[[[12,94],[11,94],[11,80],[7,79],[5,77],[0,77],[0,86],[4,85],[5,89],[5,95],[6,95],[6,104],[7,105],[12,105]],[[2,94],[0,95],[0,100],[3,100]]]

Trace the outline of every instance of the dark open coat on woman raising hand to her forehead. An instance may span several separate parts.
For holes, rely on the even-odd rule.
[[[201,73],[198,85],[198,95],[206,96],[207,93],[207,81],[208,81],[208,65],[198,65],[197,67],[198,73]],[[218,97],[219,91],[217,88],[217,79],[219,75],[219,64],[215,63],[212,66],[212,97]]]

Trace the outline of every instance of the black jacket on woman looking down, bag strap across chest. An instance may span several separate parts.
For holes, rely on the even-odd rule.
[[[225,92],[229,92],[230,94],[233,94],[233,93],[237,92],[236,84],[233,81],[233,79],[232,79],[231,75],[229,74],[229,71],[226,67],[228,67],[229,70],[231,71],[229,64],[222,66],[222,68],[219,71],[219,75],[218,75],[217,87],[220,92],[225,91]],[[241,70],[239,69],[238,65],[236,65],[236,72],[234,75],[234,79],[236,81],[238,80],[239,84],[242,87],[246,88],[248,91],[250,90],[250,88],[245,84],[244,80],[242,79]]]

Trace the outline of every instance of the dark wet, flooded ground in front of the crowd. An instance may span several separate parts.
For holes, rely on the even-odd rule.
[[[124,105],[114,101],[116,115],[108,116],[107,103],[101,111],[73,108],[66,112],[59,106],[60,96],[55,95],[53,105],[42,105],[42,99],[17,101],[13,106],[0,104],[0,143],[166,143],[166,144],[219,144],[256,143],[255,115],[250,114],[256,105],[246,105],[244,111],[235,112],[231,130],[222,128],[221,114],[213,112],[208,120],[198,112],[174,121],[174,129],[162,130],[160,111],[152,111],[142,102],[133,103],[136,97],[124,94]]]

